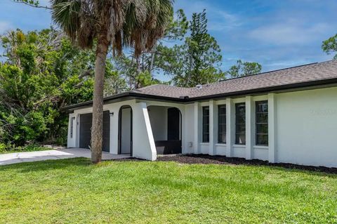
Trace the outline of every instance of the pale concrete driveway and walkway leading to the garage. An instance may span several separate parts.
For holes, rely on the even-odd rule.
[[[35,162],[44,161],[48,159],[69,159],[76,157],[91,158],[91,151],[86,149],[58,149],[46,150],[38,152],[16,152],[8,154],[0,154],[0,166],[7,164],[18,164],[21,162]],[[110,154],[108,152],[102,153],[103,160],[125,159],[129,158],[128,154]]]

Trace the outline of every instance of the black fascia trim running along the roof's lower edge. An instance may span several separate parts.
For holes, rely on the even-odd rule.
[[[135,93],[135,92],[127,92],[127,93],[120,93],[117,95],[112,95],[107,98],[104,98],[104,103],[110,103],[114,101],[122,101],[122,98],[130,98],[130,99],[139,99],[139,100],[159,100],[163,102],[171,102],[171,103],[192,103],[199,100],[209,100],[209,99],[216,99],[216,98],[227,98],[232,96],[241,96],[241,95],[248,95],[248,94],[262,94],[262,93],[269,93],[275,91],[286,91],[293,88],[306,88],[306,87],[313,87],[313,86],[324,86],[329,84],[337,84],[337,78],[333,79],[322,79],[322,80],[315,80],[315,81],[306,81],[300,82],[296,84],[286,84],[282,86],[269,86],[265,88],[255,88],[245,91],[236,91],[231,93],[219,93],[213,95],[204,95],[194,98],[171,98],[166,96],[160,95],[149,95],[144,93]],[[62,107],[61,110],[72,112],[74,110],[85,108],[85,107],[92,107],[93,101],[87,101],[84,103],[78,103],[75,105],[70,105],[67,107]]]

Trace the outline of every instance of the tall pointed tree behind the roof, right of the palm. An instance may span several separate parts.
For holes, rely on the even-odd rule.
[[[173,84],[185,87],[222,79],[220,46],[208,33],[206,11],[193,13],[188,28],[190,36],[183,45],[164,47],[161,67],[165,74],[173,75]]]

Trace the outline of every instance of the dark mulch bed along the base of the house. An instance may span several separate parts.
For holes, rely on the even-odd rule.
[[[246,160],[243,158],[211,156],[207,154],[178,154],[174,156],[161,156],[157,161],[173,161],[181,164],[227,164],[227,165],[251,165],[251,166],[279,166],[286,169],[300,169],[304,171],[317,171],[337,174],[337,168],[325,166],[303,166],[296,164],[275,163],[271,164],[259,159]]]

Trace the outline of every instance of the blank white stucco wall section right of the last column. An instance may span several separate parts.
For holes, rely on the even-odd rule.
[[[276,160],[337,167],[337,88],[277,94]]]

